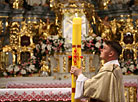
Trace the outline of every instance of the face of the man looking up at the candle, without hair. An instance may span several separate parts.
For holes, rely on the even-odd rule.
[[[108,61],[110,57],[110,52],[111,52],[111,47],[104,43],[103,49],[101,49],[100,58],[102,60],[105,60],[105,62]]]

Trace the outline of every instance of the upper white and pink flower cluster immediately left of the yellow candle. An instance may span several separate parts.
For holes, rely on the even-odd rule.
[[[55,52],[64,52],[71,48],[67,40],[61,36],[49,36],[46,39],[40,38],[40,43],[36,45],[36,50],[42,55],[52,55]]]

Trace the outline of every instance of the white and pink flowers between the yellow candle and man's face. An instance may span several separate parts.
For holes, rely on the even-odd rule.
[[[103,40],[100,36],[85,36],[82,40],[82,51],[99,52],[102,48]]]

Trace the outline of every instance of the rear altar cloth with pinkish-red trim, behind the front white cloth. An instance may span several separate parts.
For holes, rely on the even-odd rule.
[[[6,88],[71,88],[71,80],[9,81]]]

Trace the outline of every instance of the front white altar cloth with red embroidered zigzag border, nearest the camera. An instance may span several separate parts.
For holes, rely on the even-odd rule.
[[[0,89],[0,102],[4,101],[69,101],[71,88]]]

